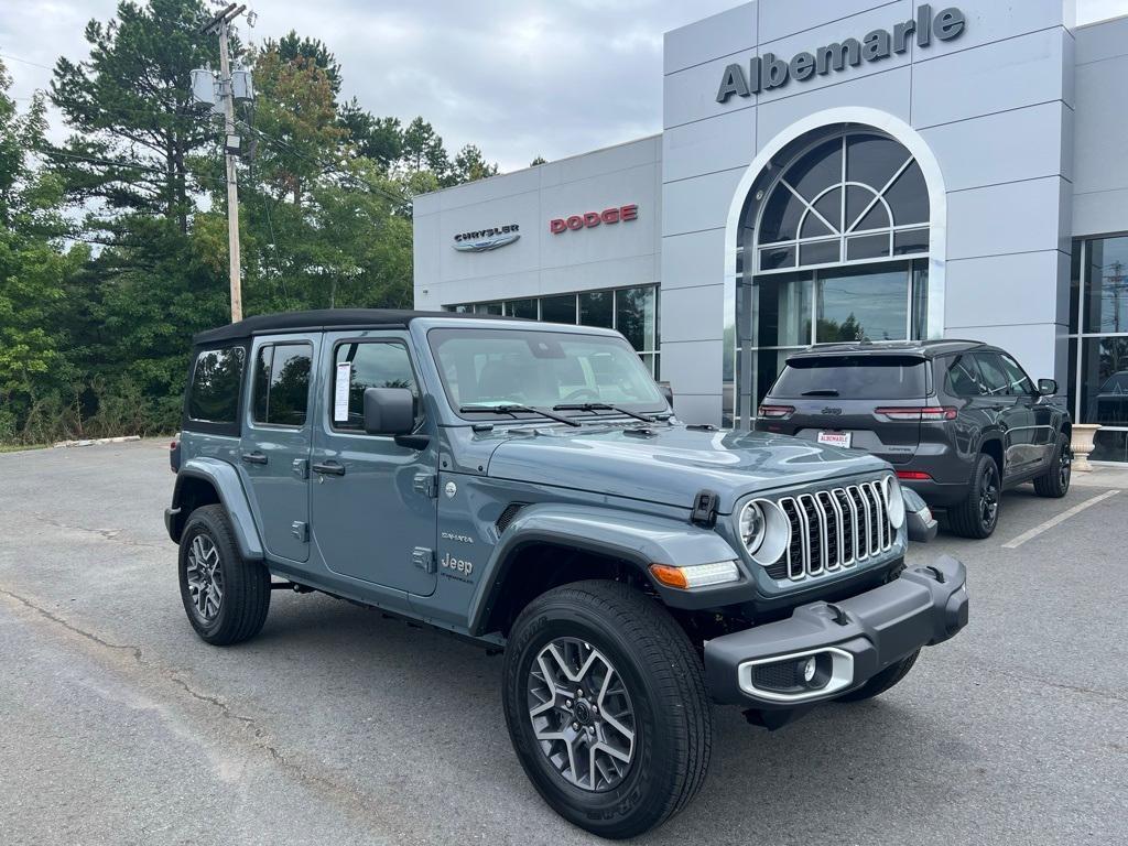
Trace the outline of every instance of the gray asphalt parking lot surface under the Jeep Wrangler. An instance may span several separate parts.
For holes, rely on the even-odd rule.
[[[501,660],[319,594],[192,633],[164,441],[0,456],[0,843],[597,843],[510,749]],[[1128,837],[1128,490],[1004,497],[971,623],[878,700],[774,733],[716,713],[669,844],[1112,844]],[[1008,541],[1028,537],[1013,548]]]

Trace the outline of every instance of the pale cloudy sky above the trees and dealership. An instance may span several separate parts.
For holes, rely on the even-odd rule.
[[[512,170],[538,155],[557,159],[658,132],[662,33],[737,2],[257,0],[257,24],[243,34],[257,41],[292,28],[320,38],[343,65],[346,97],[405,123],[422,114],[448,149],[477,143]],[[12,94],[26,98],[47,85],[60,54],[87,55],[83,26],[112,17],[116,0],[19,6],[0,17],[0,54]],[[1128,0],[1077,0],[1078,23],[1125,14]],[[65,130],[55,124],[59,138]]]

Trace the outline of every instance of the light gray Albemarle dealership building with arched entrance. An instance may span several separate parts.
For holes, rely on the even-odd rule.
[[[661,134],[416,199],[415,303],[613,326],[679,416],[742,428],[797,349],[981,340],[1128,460],[1128,17],[1074,14],[758,0],[667,33]]]

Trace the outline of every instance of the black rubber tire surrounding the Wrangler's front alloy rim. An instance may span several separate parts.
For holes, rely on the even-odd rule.
[[[597,702],[609,702],[602,696],[610,686],[606,679],[618,677],[632,708],[631,759],[615,774],[620,781],[611,784],[607,778],[601,790],[597,776],[602,773],[591,775],[593,768],[583,765],[590,778],[588,785],[580,785],[583,779],[575,778],[575,765],[569,770],[569,765],[554,764],[549,752],[543,750],[546,743],[563,754],[571,746],[569,741],[538,740],[534,728],[530,702],[539,702],[535,698],[536,679],[545,678],[544,673],[534,675],[534,670],[539,672],[538,655],[549,644],[559,643],[574,643],[578,658],[584,650],[606,658],[608,669]],[[705,781],[713,713],[700,659],[670,614],[626,584],[575,582],[535,599],[510,634],[503,685],[505,722],[526,774],[557,813],[588,831],[615,839],[641,835],[685,808]],[[561,712],[552,707],[545,717],[536,719],[557,719],[557,728],[566,731],[569,721],[579,719],[580,705],[576,698],[574,708]],[[606,720],[610,707],[603,711],[599,714],[596,708],[593,719]],[[625,720],[624,712],[618,717]],[[609,731],[607,725],[585,730]],[[598,737],[602,740],[605,735]],[[585,749],[584,755],[591,746]],[[581,756],[576,755],[575,760],[581,761]]]

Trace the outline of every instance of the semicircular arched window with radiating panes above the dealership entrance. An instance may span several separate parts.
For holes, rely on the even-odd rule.
[[[844,132],[808,148],[768,190],[756,226],[760,273],[927,252],[920,166],[874,132]]]

